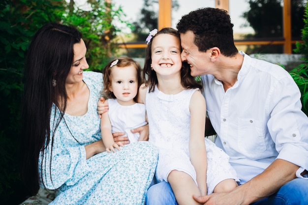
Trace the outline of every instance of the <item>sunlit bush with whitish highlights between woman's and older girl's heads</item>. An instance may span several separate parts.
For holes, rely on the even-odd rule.
[[[88,3],[91,6],[89,10],[67,5],[62,22],[76,26],[83,34],[89,69],[102,70],[118,49],[112,40],[121,28],[113,22],[116,20],[118,25],[127,27],[130,24],[122,20],[125,14],[121,7],[115,8],[114,4],[108,4],[105,0],[88,0]]]

